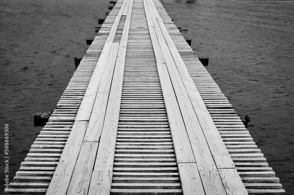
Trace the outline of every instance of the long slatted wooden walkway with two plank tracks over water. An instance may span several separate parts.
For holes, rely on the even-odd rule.
[[[5,194],[285,194],[158,0],[119,0]]]

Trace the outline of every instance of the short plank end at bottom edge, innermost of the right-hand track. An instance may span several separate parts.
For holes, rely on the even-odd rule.
[[[204,195],[196,163],[178,163],[183,195]]]

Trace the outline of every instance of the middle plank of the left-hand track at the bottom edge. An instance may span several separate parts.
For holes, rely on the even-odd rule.
[[[88,194],[98,143],[83,142],[66,194]]]

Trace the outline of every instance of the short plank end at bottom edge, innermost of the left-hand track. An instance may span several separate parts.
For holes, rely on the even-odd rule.
[[[93,171],[88,194],[110,194],[112,171]]]

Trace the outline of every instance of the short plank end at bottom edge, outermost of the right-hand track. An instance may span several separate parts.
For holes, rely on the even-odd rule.
[[[235,168],[219,168],[218,172],[228,195],[248,195],[238,171]]]

